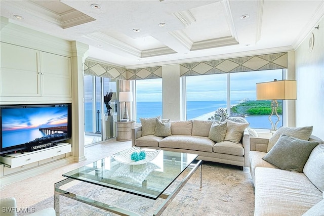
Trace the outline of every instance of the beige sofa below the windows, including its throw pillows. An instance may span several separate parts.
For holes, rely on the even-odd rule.
[[[142,118],[141,125],[132,128],[132,146],[198,154],[198,159],[236,165],[241,169],[249,166],[248,123],[170,121],[170,131],[157,136],[156,122],[156,118]],[[159,122],[168,124],[167,120]]]

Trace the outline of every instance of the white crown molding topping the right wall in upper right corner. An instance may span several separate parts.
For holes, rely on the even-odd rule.
[[[305,28],[301,31],[296,40],[293,42],[292,47],[294,48],[294,50],[296,50],[302,44],[307,35],[310,34],[312,30],[314,30],[314,26],[322,18],[324,18],[324,1],[318,7],[312,19],[306,24]]]

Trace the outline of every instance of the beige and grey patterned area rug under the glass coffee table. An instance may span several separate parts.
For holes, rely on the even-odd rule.
[[[173,190],[171,186],[167,192]],[[78,195],[120,207],[140,215],[153,215],[163,199],[151,200],[88,183],[78,183],[68,189]],[[205,162],[203,188],[199,188],[199,171],[190,178],[162,215],[253,215],[254,187],[250,170],[235,166]],[[36,210],[53,207],[53,196],[30,206]],[[25,214],[19,214],[25,215]],[[60,196],[60,215],[116,215],[114,213]]]

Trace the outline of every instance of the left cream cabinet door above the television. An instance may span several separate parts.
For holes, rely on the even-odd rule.
[[[40,96],[39,51],[1,43],[1,96]]]

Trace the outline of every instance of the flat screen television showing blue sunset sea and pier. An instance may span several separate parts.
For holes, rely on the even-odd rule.
[[[71,138],[71,104],[0,105],[0,124],[0,154],[48,147]]]

